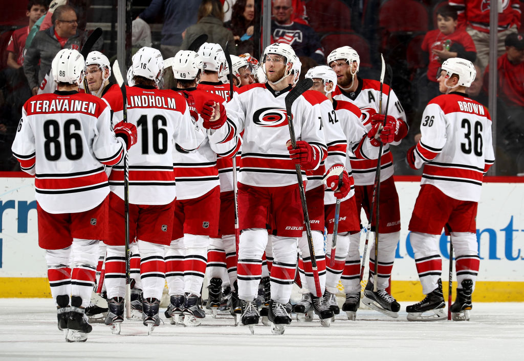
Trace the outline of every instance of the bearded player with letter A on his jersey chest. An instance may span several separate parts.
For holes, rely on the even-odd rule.
[[[397,189],[391,177],[393,163],[389,143],[397,145],[408,133],[406,114],[400,105],[395,93],[384,84],[382,107],[379,109],[380,83],[375,80],[362,79],[357,76],[360,58],[351,47],[341,47],[333,50],[328,55],[328,65],[337,75],[338,85],[333,92],[336,100],[352,101],[358,106],[363,115],[363,124],[368,131],[368,136],[374,138],[382,127],[388,96],[389,108],[387,109],[386,126],[380,132],[380,141],[384,143],[384,154],[381,158],[380,173],[380,199],[378,200],[380,212],[379,242],[378,242],[378,279],[373,279],[375,260],[369,257],[369,281],[364,290],[363,302],[370,308],[383,312],[391,317],[397,317],[400,304],[386,291],[391,277],[395,250],[400,236],[400,210]],[[378,142],[378,140],[376,140]],[[375,225],[370,215],[372,208],[373,184],[375,180],[377,161],[351,159],[353,178],[355,180],[355,201],[358,214],[364,208],[368,220]],[[374,228],[372,228],[374,230]],[[356,238],[357,235],[355,235]],[[372,242],[370,255],[375,254],[375,245]],[[346,267],[342,275],[342,284],[346,291],[346,308],[358,307],[360,302],[360,265],[354,259],[354,254],[348,255]],[[358,262],[357,262],[358,261]],[[373,292],[373,283],[377,282],[377,292]]]

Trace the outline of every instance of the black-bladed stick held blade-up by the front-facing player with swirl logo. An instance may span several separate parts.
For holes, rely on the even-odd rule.
[[[291,115],[291,106],[293,102],[297,100],[305,91],[309,90],[313,86],[313,80],[310,78],[304,78],[297,83],[297,85],[286,95],[286,116],[288,118],[289,126],[289,136],[291,138],[291,146],[293,149],[297,148],[297,138],[295,137],[294,127],[293,127],[293,118]],[[309,223],[309,214],[308,214],[308,205],[305,201],[305,189],[304,182],[302,181],[302,170],[300,164],[295,165],[295,170],[297,171],[297,181],[300,191],[300,202],[302,203],[302,212],[304,213],[304,224],[305,224],[305,233],[308,236],[308,246],[309,254],[311,256],[311,268],[313,270],[313,280],[315,282],[316,296],[322,297],[322,292],[320,291],[320,280],[319,280],[319,270],[316,267],[316,258],[315,258],[315,249],[313,246],[313,236],[311,235],[311,224]]]

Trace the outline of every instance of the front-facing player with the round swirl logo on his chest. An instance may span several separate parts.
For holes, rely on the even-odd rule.
[[[245,131],[238,185],[238,207],[242,209],[238,248],[242,323],[252,329],[260,317],[255,297],[268,241],[266,224],[271,223],[276,236],[272,245],[274,264],[268,318],[275,333],[282,333],[291,322],[285,304],[291,295],[297,263],[297,237],[303,230],[294,164],[314,170],[326,155],[320,113],[303,96],[292,107],[298,148],[291,150],[287,145],[289,130],[284,99],[291,89],[287,80],[294,56],[287,44],[268,46],[262,57],[268,83],[246,85],[226,104],[229,128],[234,133]]]

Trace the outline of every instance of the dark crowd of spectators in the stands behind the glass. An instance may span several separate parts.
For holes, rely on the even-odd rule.
[[[216,9],[217,2],[220,11]],[[40,5],[48,10],[49,6],[53,9],[68,3],[77,15],[80,39],[101,27],[103,42],[97,44],[96,50],[103,51],[111,62],[116,59],[117,0],[42,0],[36,1],[37,8],[29,11],[28,3],[10,3],[5,8],[8,10],[0,14],[0,171],[19,171],[10,147],[21,107],[32,94],[27,72],[21,66],[29,49],[15,49],[9,55],[8,49],[13,48],[8,46],[16,29],[46,16],[38,9]],[[209,4],[208,13],[202,13],[202,3]],[[263,0],[133,0],[134,51],[152,46],[160,49],[166,59],[186,48],[199,32],[208,31],[209,42],[224,46],[227,40],[230,44],[233,40],[232,54],[248,52],[258,59],[263,3]],[[492,116],[496,125],[496,171],[491,175],[524,175],[524,39],[519,34],[522,15],[518,0],[505,0],[499,5],[503,8],[499,9],[497,116]],[[417,173],[407,165],[406,151],[418,140],[422,110],[436,95],[431,93],[431,78],[439,59],[457,56],[453,54],[474,57],[477,77],[469,95],[488,106],[490,66],[486,66],[488,44],[482,40],[488,38],[489,31],[471,20],[481,21],[486,13],[489,14],[489,0],[273,0],[271,41],[291,43],[303,64],[302,77],[309,67],[325,64],[333,49],[348,45],[360,56],[358,75],[378,79],[380,53],[384,54],[393,70],[392,87],[410,125],[401,145],[392,147],[395,174],[412,175]],[[46,21],[50,22],[51,17],[42,24]],[[62,21],[62,26],[67,25],[74,27],[74,21]],[[453,40],[446,42],[450,38]],[[34,46],[37,44],[31,43]],[[390,82],[386,79],[386,83]]]

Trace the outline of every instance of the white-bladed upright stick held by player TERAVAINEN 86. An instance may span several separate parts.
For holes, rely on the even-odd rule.
[[[120,72],[118,62],[113,63],[113,73],[122,91],[122,121],[127,122],[127,95],[124,78]],[[131,250],[129,247],[129,162],[127,151],[124,153],[124,227],[125,227],[125,257],[126,257],[126,317],[131,318]]]

